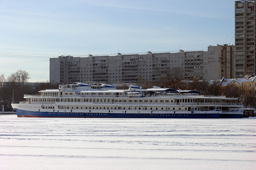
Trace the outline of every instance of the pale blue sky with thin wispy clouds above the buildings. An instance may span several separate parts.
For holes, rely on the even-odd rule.
[[[234,0],[0,0],[0,74],[49,80],[49,58],[234,44]]]

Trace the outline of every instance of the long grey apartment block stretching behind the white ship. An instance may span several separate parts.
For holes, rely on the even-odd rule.
[[[159,82],[172,67],[184,70],[184,79],[233,78],[233,45],[209,46],[207,51],[115,56],[50,58],[50,82]]]

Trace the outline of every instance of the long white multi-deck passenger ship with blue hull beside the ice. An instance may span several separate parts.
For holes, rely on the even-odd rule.
[[[12,104],[18,117],[74,118],[241,118],[237,98],[204,96],[197,90],[76,83],[24,95]]]

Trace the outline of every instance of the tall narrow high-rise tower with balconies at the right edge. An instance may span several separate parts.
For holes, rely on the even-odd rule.
[[[235,1],[235,76],[255,74],[255,0]]]

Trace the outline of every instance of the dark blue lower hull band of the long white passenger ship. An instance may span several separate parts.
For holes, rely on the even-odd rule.
[[[221,113],[184,113],[184,114],[154,114],[154,113],[80,113],[80,112],[32,112],[15,108],[18,117],[74,117],[74,118],[188,118],[216,119]],[[85,114],[85,116],[84,116]]]

